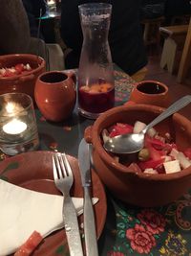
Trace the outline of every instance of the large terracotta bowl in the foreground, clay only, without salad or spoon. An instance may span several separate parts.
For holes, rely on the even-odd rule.
[[[94,126],[85,132],[86,140],[94,146],[93,160],[96,172],[115,197],[138,206],[155,207],[180,198],[191,188],[191,167],[170,175],[136,173],[107,153],[101,144],[103,128],[117,122],[134,125],[136,121],[149,123],[164,108],[155,105],[118,106],[100,115]],[[169,132],[180,151],[191,145],[191,122],[179,113],[156,126],[161,135]]]

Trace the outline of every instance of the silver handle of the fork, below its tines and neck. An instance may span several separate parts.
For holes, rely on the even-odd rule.
[[[83,256],[77,215],[72,198],[65,197],[63,201],[63,220],[71,256]]]

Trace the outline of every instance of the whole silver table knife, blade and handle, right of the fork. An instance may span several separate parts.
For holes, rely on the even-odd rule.
[[[86,143],[85,139],[82,139],[78,148],[78,164],[84,189],[83,216],[86,256],[98,256],[95,215],[90,192],[92,186],[91,152],[91,145]]]

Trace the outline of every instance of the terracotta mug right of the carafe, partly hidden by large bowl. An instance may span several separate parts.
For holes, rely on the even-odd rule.
[[[166,107],[169,103],[168,87],[160,81],[139,81],[125,105],[134,103]]]

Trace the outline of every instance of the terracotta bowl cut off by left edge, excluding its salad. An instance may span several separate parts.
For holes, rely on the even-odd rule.
[[[29,94],[33,98],[35,81],[46,69],[45,60],[41,57],[28,54],[0,56],[0,68],[11,68],[18,63],[29,63],[32,70],[26,74],[21,73],[13,77],[0,78],[0,94],[22,92]]]

